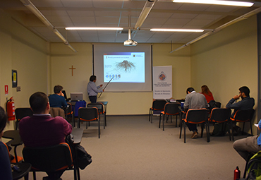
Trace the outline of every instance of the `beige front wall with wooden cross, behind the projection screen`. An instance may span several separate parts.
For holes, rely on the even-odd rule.
[[[88,103],[87,83],[92,75],[92,44],[71,43],[78,52],[72,52],[62,43],[51,43],[51,85],[62,85],[67,95],[71,92],[83,92]],[[110,44],[108,44],[109,46]],[[178,47],[179,44],[174,45]],[[170,54],[170,44],[153,44],[153,66],[172,66],[173,97],[186,96],[190,85],[190,48],[183,52]],[[73,70],[73,76],[71,66]],[[99,77],[97,77],[99,78]],[[152,92],[103,92],[98,101],[108,101],[107,114],[148,114],[152,106]]]

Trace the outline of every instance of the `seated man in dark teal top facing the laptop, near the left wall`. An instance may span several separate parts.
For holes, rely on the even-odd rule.
[[[61,85],[54,86],[54,95],[49,95],[49,103],[50,107],[60,107],[65,108],[67,107],[66,100],[64,98],[63,87]]]

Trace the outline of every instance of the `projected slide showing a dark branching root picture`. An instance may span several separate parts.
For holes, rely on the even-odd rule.
[[[145,52],[111,52],[103,61],[105,83],[145,83]]]

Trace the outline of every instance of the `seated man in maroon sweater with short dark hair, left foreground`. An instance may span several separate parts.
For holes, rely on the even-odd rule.
[[[29,99],[33,116],[26,116],[19,122],[19,133],[25,146],[47,147],[65,142],[71,134],[71,124],[61,116],[51,117],[48,97],[44,92],[35,92]],[[59,180],[64,170],[55,173],[47,172],[44,179]]]

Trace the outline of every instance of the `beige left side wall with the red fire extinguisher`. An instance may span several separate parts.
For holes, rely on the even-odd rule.
[[[48,44],[1,9],[0,22],[0,105],[5,109],[6,98],[13,97],[16,108],[29,107],[33,92],[47,92]],[[18,72],[20,92],[12,88],[12,69]],[[6,130],[13,128],[13,121],[9,121]]]

